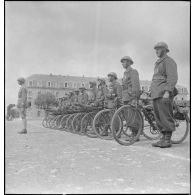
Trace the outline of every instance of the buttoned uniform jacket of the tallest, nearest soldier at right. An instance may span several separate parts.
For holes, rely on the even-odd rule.
[[[155,63],[154,75],[151,83],[151,97],[162,97],[165,91],[173,95],[178,80],[177,64],[169,56],[158,59]]]

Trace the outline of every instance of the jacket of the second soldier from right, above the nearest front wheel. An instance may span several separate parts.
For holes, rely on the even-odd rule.
[[[137,70],[131,68],[129,66],[127,70],[124,72],[124,76],[122,79],[122,87],[123,87],[123,101],[129,101],[133,98],[139,98],[140,96],[140,82],[139,82],[139,74]]]

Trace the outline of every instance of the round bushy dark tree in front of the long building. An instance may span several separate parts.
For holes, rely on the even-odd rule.
[[[35,99],[35,105],[41,109],[48,109],[50,106],[56,106],[56,98],[52,93],[38,94]]]

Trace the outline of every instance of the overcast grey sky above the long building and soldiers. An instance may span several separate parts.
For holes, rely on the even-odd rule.
[[[168,44],[178,84],[189,89],[190,3],[185,1],[5,2],[5,95],[16,103],[17,78],[31,74],[105,77],[130,56],[151,80],[154,45]]]

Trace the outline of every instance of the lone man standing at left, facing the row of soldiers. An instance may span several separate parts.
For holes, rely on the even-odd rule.
[[[25,79],[24,78],[18,78],[18,84],[21,86],[20,90],[18,92],[18,103],[17,107],[20,112],[20,117],[22,118],[22,124],[23,129],[21,131],[18,131],[20,134],[26,134],[27,133],[27,121],[26,121],[26,110],[27,110],[27,89],[25,87]]]

